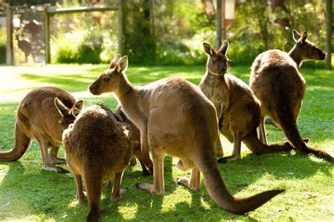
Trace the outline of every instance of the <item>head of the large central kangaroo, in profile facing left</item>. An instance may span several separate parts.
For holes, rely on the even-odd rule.
[[[120,81],[124,78],[123,72],[128,67],[128,56],[121,57],[116,55],[111,60],[109,69],[102,72],[97,80],[90,86],[89,91],[93,95],[101,95],[102,93],[111,93],[116,91],[120,85]]]

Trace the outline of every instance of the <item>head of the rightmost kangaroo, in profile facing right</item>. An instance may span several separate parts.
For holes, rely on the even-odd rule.
[[[295,50],[301,55],[303,60],[324,60],[326,53],[322,51],[318,46],[307,40],[309,34],[304,32],[299,34],[296,30],[292,31],[293,39],[295,40]]]

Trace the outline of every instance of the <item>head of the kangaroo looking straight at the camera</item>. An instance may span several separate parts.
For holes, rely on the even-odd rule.
[[[206,68],[209,72],[216,75],[223,75],[228,70],[228,41],[224,41],[218,51],[215,51],[210,44],[203,43],[204,51],[209,55]]]

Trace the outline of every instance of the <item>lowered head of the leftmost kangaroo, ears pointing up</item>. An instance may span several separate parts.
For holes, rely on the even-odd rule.
[[[54,98],[54,105],[56,105],[58,112],[61,114],[61,129],[68,129],[70,124],[73,124],[75,118],[79,115],[83,107],[83,101],[79,100],[70,109],[61,102],[58,98]]]

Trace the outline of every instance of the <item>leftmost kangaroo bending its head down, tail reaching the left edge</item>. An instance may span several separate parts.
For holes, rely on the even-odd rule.
[[[63,105],[63,112],[66,113],[66,119],[63,119],[62,123],[61,115],[54,106],[55,98],[59,98],[57,103]],[[67,91],[54,87],[42,87],[27,93],[16,112],[15,145],[11,150],[0,152],[0,161],[20,159],[31,139],[35,138],[42,152],[42,169],[67,173],[66,169],[54,164],[66,163],[65,159],[57,157],[61,133],[74,122],[74,110],[81,110],[82,105],[82,100],[77,101]],[[49,153],[48,147],[51,147]]]

